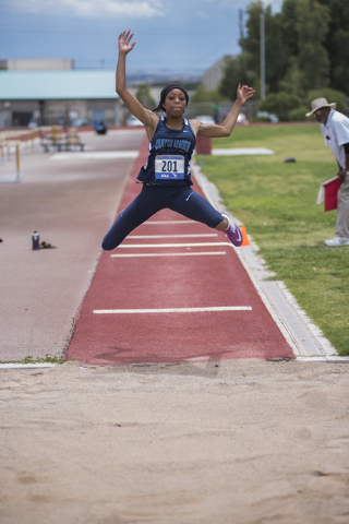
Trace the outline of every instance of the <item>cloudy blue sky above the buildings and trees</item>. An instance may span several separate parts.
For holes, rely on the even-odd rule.
[[[115,69],[118,36],[136,45],[129,72],[200,73],[237,55],[239,10],[251,0],[0,0],[0,59],[72,58],[76,69]],[[264,0],[273,13],[282,0]]]

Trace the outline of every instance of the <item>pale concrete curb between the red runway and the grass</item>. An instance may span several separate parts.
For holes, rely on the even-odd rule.
[[[193,165],[193,175],[212,205],[219,212],[226,211],[216,186],[207,180],[196,164]],[[231,217],[237,224],[241,225],[239,219]],[[257,245],[252,241],[250,236],[248,237],[250,246],[234,248],[234,250],[294,355],[302,361],[345,361],[342,359],[346,357],[337,355],[335,347],[297,303],[284,282],[268,281],[274,275],[266,269],[261,257],[257,255]],[[316,360],[314,360],[315,358]]]

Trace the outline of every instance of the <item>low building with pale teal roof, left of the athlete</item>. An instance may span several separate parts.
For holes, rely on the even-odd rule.
[[[123,123],[115,70],[0,71],[0,128],[51,126],[62,119]],[[86,122],[86,123],[87,123]]]

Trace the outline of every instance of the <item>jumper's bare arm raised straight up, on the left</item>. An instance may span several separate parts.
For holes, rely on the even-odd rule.
[[[154,112],[145,109],[142,104],[136,99],[135,96],[130,93],[127,88],[127,73],[125,73],[125,62],[127,55],[132,51],[135,46],[135,41],[131,43],[133,34],[130,34],[130,31],[123,32],[119,35],[119,59],[117,66],[117,93],[120,98],[123,100],[127,108],[141,122],[144,124],[148,138],[153,136],[158,117]]]

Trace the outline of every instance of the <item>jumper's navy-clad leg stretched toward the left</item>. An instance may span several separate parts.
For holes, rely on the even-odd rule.
[[[103,249],[110,251],[137,226],[165,207],[156,187],[143,186],[141,193],[118,216],[101,242]]]

